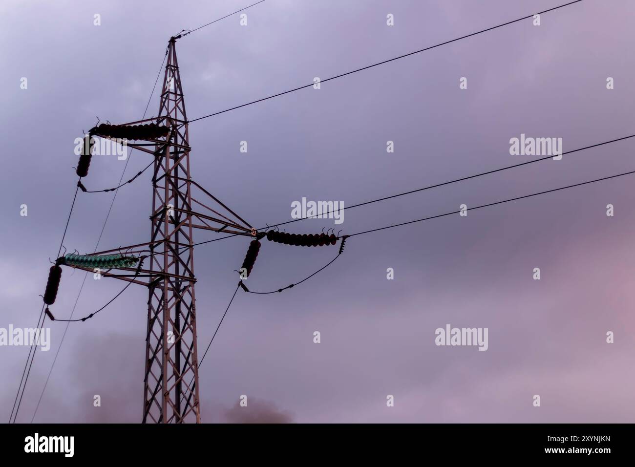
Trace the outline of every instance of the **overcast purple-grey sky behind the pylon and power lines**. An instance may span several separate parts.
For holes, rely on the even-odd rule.
[[[253,3],[253,2],[252,2]],[[565,3],[564,0],[267,0],[177,42],[190,119]],[[0,327],[33,327],[76,175],[74,139],[141,118],[169,37],[249,1],[0,3]],[[93,15],[102,25],[93,25]],[[394,15],[395,25],[385,18]],[[192,177],[253,225],[291,202],[346,206],[499,168],[521,133],[565,151],[634,133],[629,0],[585,0],[531,20],[190,125]],[[467,77],[467,90],[458,80]],[[20,89],[20,78],[28,89]],[[606,89],[606,78],[615,89]],[[160,83],[159,83],[160,85]],[[157,95],[149,116],[156,115]],[[241,140],[248,153],[239,152]],[[393,140],[395,152],[385,151]],[[344,212],[354,233],[634,170],[626,140]],[[133,152],[127,178],[149,163]],[[93,157],[84,184],[115,186],[124,161]],[[282,294],[239,294],[201,365],[203,421],[632,422],[635,176],[356,236],[332,266]],[[123,187],[99,250],[147,241],[150,173]],[[64,241],[92,251],[112,193],[80,193]],[[606,205],[615,215],[606,216]],[[28,206],[27,217],[20,205]],[[332,227],[304,220],[293,233]],[[214,238],[196,231],[195,240]],[[199,349],[236,287],[248,239],[196,247]],[[271,290],[337,247],[264,241],[248,286]],[[394,280],[386,279],[387,267]],[[540,267],[542,279],[532,279]],[[65,268],[51,310],[70,315],[84,278]],[[90,276],[76,316],[121,288]],[[147,291],[70,325],[36,422],[142,416]],[[434,331],[488,328],[489,348],[442,347]],[[18,421],[29,422],[51,351],[37,351]],[[321,343],[313,343],[313,332]],[[615,342],[606,343],[606,332]],[[0,347],[0,420],[26,347]],[[93,407],[93,395],[102,407]],[[236,407],[239,396],[247,408]],[[395,406],[386,406],[394,395]],[[533,395],[541,406],[533,407]]]

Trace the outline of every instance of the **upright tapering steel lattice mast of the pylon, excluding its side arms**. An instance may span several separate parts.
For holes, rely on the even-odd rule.
[[[149,249],[159,274],[149,281],[143,421],[200,423],[190,146],[175,37],[156,122],[170,134],[154,153]]]

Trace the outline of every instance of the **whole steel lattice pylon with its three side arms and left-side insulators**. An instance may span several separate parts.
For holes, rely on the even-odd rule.
[[[85,142],[90,149],[84,148],[77,166],[77,185],[86,191],[81,177],[88,174],[93,136],[117,142],[124,137],[134,141],[127,142],[128,147],[154,156],[150,241],[59,258],[51,267],[44,299],[46,304],[55,302],[60,266],[97,271],[105,277],[148,287],[143,423],[201,423],[193,229],[255,235],[250,224],[191,178],[187,114],[176,51],[179,37],[170,38],[166,52],[158,116],[124,125],[95,126]],[[211,198],[215,209],[194,198],[192,189]],[[211,215],[195,212],[192,203]],[[119,255],[112,255],[117,252]],[[132,261],[122,261],[123,255]],[[149,269],[142,269],[144,259],[149,259]],[[129,267],[137,261],[137,267]],[[48,308],[46,312],[50,313]]]

